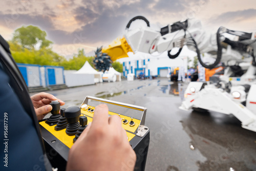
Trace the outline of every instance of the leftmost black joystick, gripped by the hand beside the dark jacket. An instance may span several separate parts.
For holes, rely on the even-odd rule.
[[[60,118],[60,114],[59,114],[60,103],[58,102],[58,100],[52,100],[50,104],[52,106],[52,110],[51,110],[52,116],[50,116],[50,118],[46,120],[46,123],[52,126],[52,125],[55,125]]]

